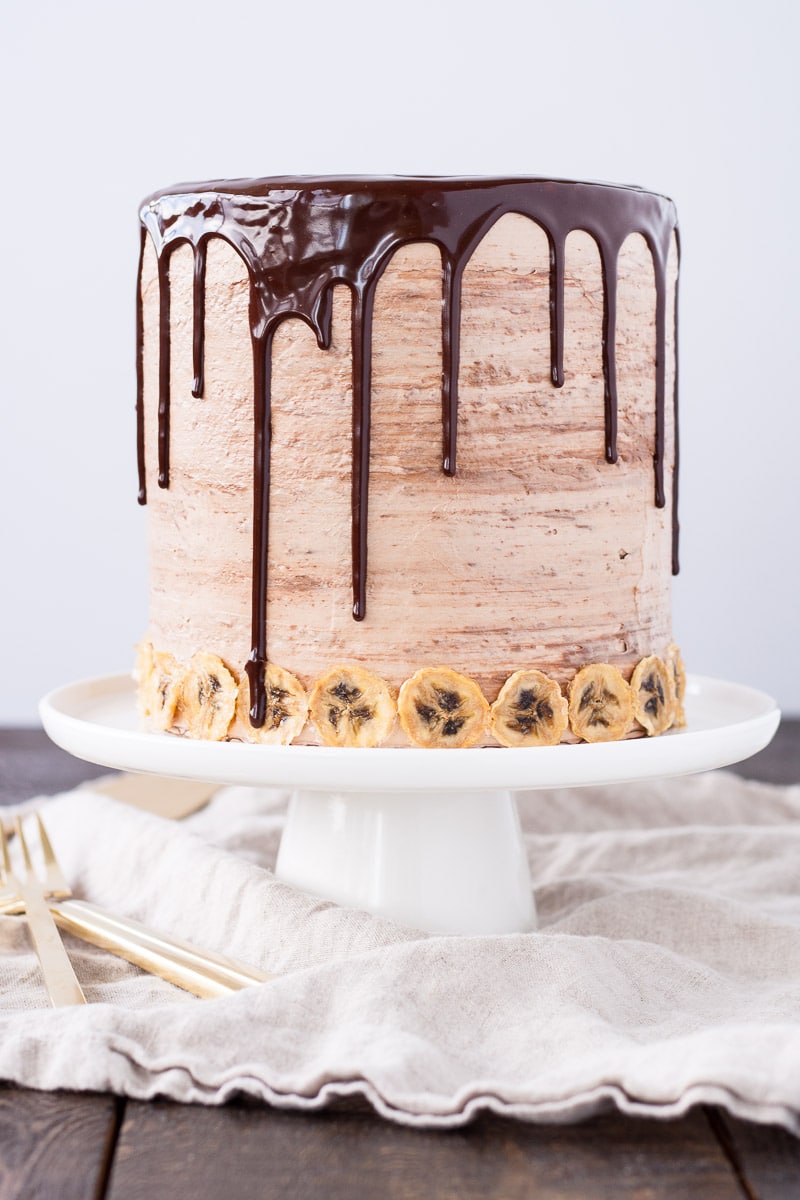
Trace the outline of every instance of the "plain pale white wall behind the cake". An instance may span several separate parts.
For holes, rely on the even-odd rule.
[[[137,206],[191,179],[553,174],[679,209],[691,670],[800,712],[798,6],[284,0],[5,6],[0,721],[127,668]]]

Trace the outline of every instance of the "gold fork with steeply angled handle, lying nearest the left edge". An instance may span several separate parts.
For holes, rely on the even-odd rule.
[[[28,842],[25,841],[25,834],[19,820],[14,826],[14,830],[19,839],[25,875],[17,875],[11,866],[6,832],[0,821],[0,856],[2,857],[2,864],[0,865],[0,886],[2,887],[2,892],[0,894],[7,896],[10,907],[12,904],[16,904],[16,906],[24,908],[50,1003],[54,1007],[61,1004],[85,1004],[86,998],[80,990],[80,984],[72,970],[72,964],[64,948],[59,931],[55,928],[44,892],[34,874]]]

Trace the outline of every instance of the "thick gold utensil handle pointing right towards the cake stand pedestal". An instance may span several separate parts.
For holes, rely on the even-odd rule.
[[[61,929],[196,996],[225,996],[272,978],[222,954],[157,934],[138,920],[104,912],[85,900],[50,900],[49,906]]]

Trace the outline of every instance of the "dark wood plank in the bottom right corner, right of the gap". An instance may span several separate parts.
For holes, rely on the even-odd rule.
[[[718,1114],[721,1140],[730,1144],[730,1157],[750,1194],[757,1200],[798,1200],[800,1196],[800,1140],[778,1126],[753,1124]]]

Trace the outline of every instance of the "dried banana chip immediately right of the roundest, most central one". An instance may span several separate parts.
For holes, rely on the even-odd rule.
[[[504,746],[554,746],[567,721],[567,702],[554,679],[516,671],[492,704],[489,728]]]

